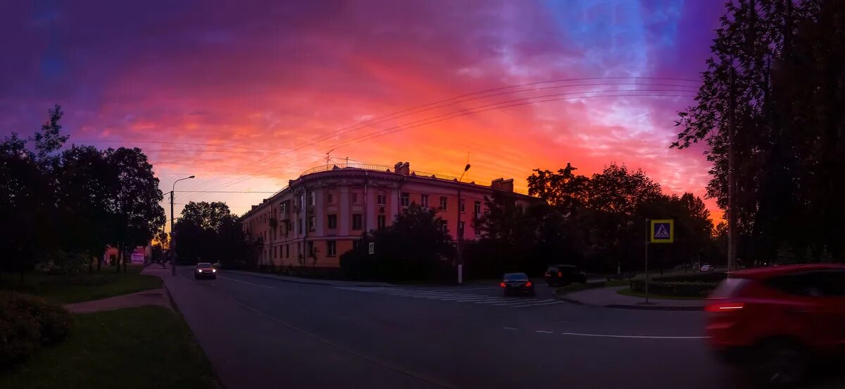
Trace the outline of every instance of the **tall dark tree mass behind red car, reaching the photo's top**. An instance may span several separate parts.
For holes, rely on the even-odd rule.
[[[815,259],[824,249],[841,257],[845,3],[738,0],[726,3],[721,21],[673,147],[706,143],[708,195],[724,209],[733,90],[740,259],[767,262],[808,247]]]

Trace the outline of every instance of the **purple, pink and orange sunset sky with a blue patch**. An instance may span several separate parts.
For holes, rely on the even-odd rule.
[[[722,2],[0,8],[0,135],[31,135],[61,104],[68,144],[141,148],[163,192],[195,175],[178,184],[177,214],[192,200],[242,214],[327,158],[453,176],[469,162],[466,181],[515,178],[521,189],[532,169],[567,162],[586,175],[642,168],[668,194],[704,197],[711,178],[701,147],[668,146]]]

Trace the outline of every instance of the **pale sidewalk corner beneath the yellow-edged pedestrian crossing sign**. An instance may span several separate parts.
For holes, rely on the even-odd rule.
[[[646,299],[639,297],[624,296],[616,293],[619,289],[628,287],[611,287],[586,289],[578,292],[567,293],[562,296],[555,294],[558,299],[563,299],[575,304],[600,306],[607,308],[625,308],[629,310],[704,310],[706,300],[668,300],[668,299]]]

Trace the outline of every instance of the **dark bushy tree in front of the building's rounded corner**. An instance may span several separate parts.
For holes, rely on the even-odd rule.
[[[450,273],[455,246],[436,211],[412,204],[389,226],[364,233],[361,243],[341,255],[346,277],[421,280]],[[368,254],[368,243],[375,254]]]

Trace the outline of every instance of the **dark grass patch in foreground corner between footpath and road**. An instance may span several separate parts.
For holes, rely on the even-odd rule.
[[[73,316],[68,338],[0,372],[0,387],[219,387],[172,310],[145,306]]]

